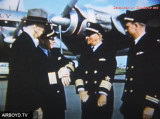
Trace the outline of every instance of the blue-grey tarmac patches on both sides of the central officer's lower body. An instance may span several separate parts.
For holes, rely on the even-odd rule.
[[[122,119],[122,115],[119,112],[121,105],[121,95],[124,87],[124,83],[114,83],[114,112],[112,119]],[[66,119],[80,119],[81,107],[79,96],[75,93],[75,87],[69,86],[65,88],[67,98],[67,111]]]

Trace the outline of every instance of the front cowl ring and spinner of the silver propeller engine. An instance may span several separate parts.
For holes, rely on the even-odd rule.
[[[62,26],[63,35],[79,34],[85,30],[87,20],[78,9],[72,9],[66,17],[53,16],[51,22]]]

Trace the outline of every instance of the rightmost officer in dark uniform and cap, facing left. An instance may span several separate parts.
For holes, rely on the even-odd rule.
[[[132,37],[128,52],[126,81],[120,108],[124,119],[153,119],[157,106],[148,95],[159,98],[160,40],[146,32],[143,13],[127,11],[124,21]]]

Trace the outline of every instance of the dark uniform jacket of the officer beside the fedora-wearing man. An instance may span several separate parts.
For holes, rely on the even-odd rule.
[[[71,60],[61,55],[59,49],[54,48],[48,57],[41,48],[37,48],[37,79],[38,89],[41,95],[40,101],[42,110],[45,112],[64,111],[66,109],[66,99],[64,87],[61,79],[58,78],[58,70],[61,67],[72,65]],[[55,83],[51,83],[48,73],[53,73]]]

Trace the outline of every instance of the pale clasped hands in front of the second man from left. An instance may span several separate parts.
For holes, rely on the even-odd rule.
[[[69,86],[71,82],[70,69],[67,67],[62,67],[58,71],[58,77],[61,79],[63,86]]]

